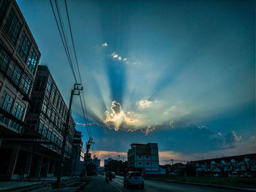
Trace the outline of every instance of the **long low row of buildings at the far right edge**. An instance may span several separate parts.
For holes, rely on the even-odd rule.
[[[256,153],[191,161],[203,175],[256,177]]]

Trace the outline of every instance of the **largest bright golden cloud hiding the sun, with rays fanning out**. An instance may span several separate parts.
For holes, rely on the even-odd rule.
[[[121,108],[121,104],[116,101],[112,101],[111,112],[105,111],[105,115],[106,119],[104,123],[108,128],[114,128],[116,131],[118,131],[121,124],[124,126],[136,126],[136,124],[139,123],[138,117],[140,116],[135,112],[124,112]]]

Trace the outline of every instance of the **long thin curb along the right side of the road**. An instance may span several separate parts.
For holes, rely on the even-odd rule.
[[[192,183],[192,182],[184,182],[184,181],[176,181],[176,180],[161,180],[161,179],[147,179],[146,180],[159,180],[159,181],[165,181],[169,183],[181,183],[181,184],[187,184],[187,185],[197,185],[197,186],[204,186],[204,187],[212,187],[212,188],[225,188],[225,189],[231,189],[231,190],[239,190],[239,191],[255,191],[256,189],[253,188],[237,188],[232,187],[228,185],[216,185],[216,184],[208,184],[208,183]]]

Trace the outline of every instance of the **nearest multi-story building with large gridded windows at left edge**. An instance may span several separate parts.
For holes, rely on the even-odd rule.
[[[16,1],[0,0],[0,180],[29,170],[23,123],[39,58],[37,43]],[[18,159],[28,164],[19,169]]]

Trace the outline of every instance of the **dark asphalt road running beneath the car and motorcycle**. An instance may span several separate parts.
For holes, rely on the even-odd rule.
[[[113,179],[111,182],[105,183],[105,176],[97,175],[92,177],[91,182],[86,188],[83,188],[85,192],[233,192],[233,190],[228,190],[224,188],[211,188],[203,187],[197,185],[185,185],[179,183],[168,183],[165,181],[156,181],[156,180],[145,180],[144,188],[132,187],[124,188],[123,177],[116,176],[116,179]],[[239,191],[238,191],[239,192]]]

